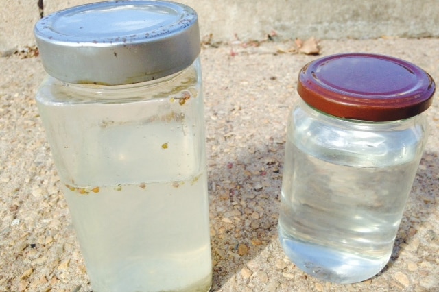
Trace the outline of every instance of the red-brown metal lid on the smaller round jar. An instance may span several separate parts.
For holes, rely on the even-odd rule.
[[[343,53],[300,70],[297,90],[313,108],[335,117],[396,121],[427,110],[436,86],[418,66],[390,56]]]

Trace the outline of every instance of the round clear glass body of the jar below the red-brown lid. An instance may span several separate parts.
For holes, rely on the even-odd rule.
[[[300,100],[289,115],[279,235],[320,280],[366,280],[388,263],[427,139],[423,114],[341,119]]]

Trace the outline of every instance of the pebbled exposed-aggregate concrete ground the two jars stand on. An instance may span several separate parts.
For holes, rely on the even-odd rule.
[[[253,44],[254,45],[254,44]],[[320,282],[285,257],[277,239],[285,126],[296,75],[318,58],[292,42],[202,50],[213,288],[219,292],[439,291],[439,101],[394,252],[377,276]],[[324,40],[322,55],[386,53],[439,80],[439,39]],[[32,51],[31,51],[32,52]],[[0,58],[0,291],[88,292],[86,268],[34,102],[38,57]],[[437,93],[436,93],[437,96]]]

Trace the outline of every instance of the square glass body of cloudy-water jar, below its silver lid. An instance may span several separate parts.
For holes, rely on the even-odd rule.
[[[199,60],[121,86],[47,77],[36,100],[93,290],[208,291]]]

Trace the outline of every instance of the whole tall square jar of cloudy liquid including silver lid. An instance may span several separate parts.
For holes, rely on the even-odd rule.
[[[209,291],[197,14],[108,1],[41,19],[36,94],[94,291]]]

